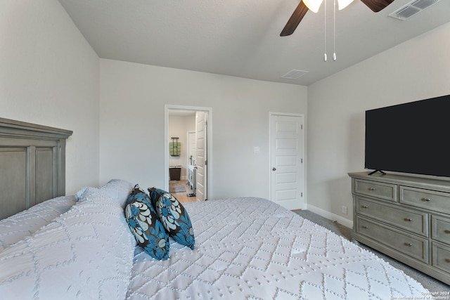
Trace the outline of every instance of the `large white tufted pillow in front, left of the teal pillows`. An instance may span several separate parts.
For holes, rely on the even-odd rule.
[[[0,253],[3,299],[124,299],[134,237],[117,202],[87,188],[80,202]]]

